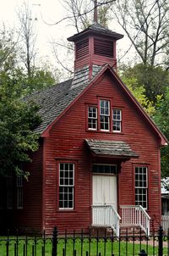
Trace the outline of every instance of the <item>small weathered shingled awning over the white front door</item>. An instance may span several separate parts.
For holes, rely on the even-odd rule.
[[[109,155],[122,159],[138,158],[139,155],[129,147],[128,143],[120,141],[103,141],[85,139],[90,151],[97,156]]]

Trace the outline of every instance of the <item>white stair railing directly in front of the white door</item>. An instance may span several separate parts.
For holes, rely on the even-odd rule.
[[[121,217],[113,205],[92,205],[92,226],[111,227],[118,237],[120,220]]]

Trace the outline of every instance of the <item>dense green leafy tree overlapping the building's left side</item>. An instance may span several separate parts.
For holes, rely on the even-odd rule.
[[[39,135],[33,130],[41,120],[34,103],[21,100],[20,70],[0,73],[0,174],[9,170],[27,176],[20,163],[30,161],[38,148]]]

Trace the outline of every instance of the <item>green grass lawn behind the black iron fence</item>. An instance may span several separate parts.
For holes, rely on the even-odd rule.
[[[18,244],[18,246],[17,246]],[[57,255],[62,256],[63,250],[66,252],[66,256],[74,255],[73,252],[76,250],[77,256],[85,256],[86,252],[90,256],[96,256],[101,253],[101,256],[132,256],[139,255],[140,249],[144,249],[148,255],[158,255],[158,247],[153,247],[148,244],[139,244],[137,242],[122,242],[116,241],[112,242],[107,239],[104,242],[100,239],[98,242],[95,238],[92,238],[89,242],[88,238],[76,238],[73,242],[72,238],[69,238],[67,242],[64,239],[59,239],[57,243]],[[8,256],[52,256],[52,240],[42,238],[27,238],[27,243],[25,243],[25,237],[19,237],[18,242],[16,242],[16,237],[10,237],[9,246],[6,245],[6,237],[0,237],[0,256],[6,256],[8,250]],[[42,251],[45,254],[42,254]],[[25,254],[24,254],[25,251]],[[27,253],[26,253],[27,252]],[[167,248],[164,248],[163,255],[167,254]]]

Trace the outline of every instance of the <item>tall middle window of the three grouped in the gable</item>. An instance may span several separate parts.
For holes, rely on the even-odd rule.
[[[107,100],[100,101],[100,125],[102,131],[110,130],[110,102]]]

